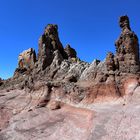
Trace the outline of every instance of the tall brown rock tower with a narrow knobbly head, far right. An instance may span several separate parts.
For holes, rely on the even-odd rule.
[[[138,38],[131,31],[128,16],[120,17],[119,24],[122,32],[119,39],[115,42],[119,71],[136,73],[140,70]]]

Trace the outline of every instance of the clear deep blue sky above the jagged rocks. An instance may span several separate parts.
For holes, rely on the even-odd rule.
[[[0,0],[0,77],[13,75],[20,52],[38,51],[49,23],[58,24],[63,46],[71,44],[82,60],[103,60],[115,51],[118,18],[125,14],[140,37],[140,0]]]

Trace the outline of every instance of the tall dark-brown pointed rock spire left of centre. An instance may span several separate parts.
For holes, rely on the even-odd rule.
[[[64,57],[64,49],[58,36],[58,26],[48,24],[39,39],[38,64],[44,70],[54,58],[54,51],[58,50]]]

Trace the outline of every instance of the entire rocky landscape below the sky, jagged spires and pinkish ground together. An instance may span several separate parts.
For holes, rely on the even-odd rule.
[[[139,43],[127,16],[119,24],[116,53],[91,64],[47,25],[37,58],[24,51],[0,79],[0,140],[139,140]]]

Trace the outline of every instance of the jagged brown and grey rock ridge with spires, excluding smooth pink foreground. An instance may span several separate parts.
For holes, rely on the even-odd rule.
[[[116,53],[108,52],[105,61],[95,60],[91,64],[81,61],[69,44],[63,48],[58,26],[48,24],[39,39],[37,58],[32,48],[22,52],[14,77],[5,81],[4,85],[8,85],[8,88],[28,88],[32,91],[38,87],[37,83],[43,82],[43,85],[39,85],[45,84],[48,89],[44,95],[47,99],[43,97],[41,100],[43,104],[46,100],[51,100],[53,95],[56,96],[56,93],[58,98],[63,95],[65,100],[67,98],[73,102],[94,102],[95,95],[97,94],[97,98],[101,92],[106,97],[123,95],[124,79],[130,75],[137,77],[139,74],[139,44],[137,36],[131,31],[129,18],[120,17],[119,24],[122,32],[115,43]],[[92,83],[92,87],[84,88],[82,84],[79,85],[83,81],[88,83],[87,86]],[[102,88],[106,90],[103,92]],[[92,95],[89,95],[89,91]],[[69,96],[65,93],[69,93]]]

